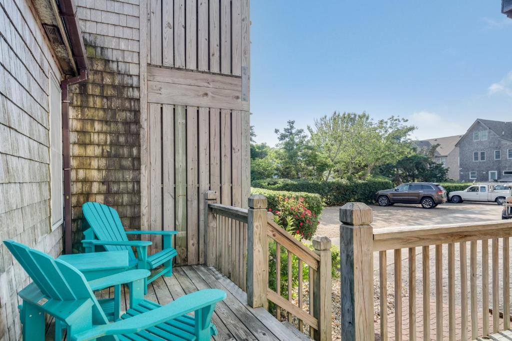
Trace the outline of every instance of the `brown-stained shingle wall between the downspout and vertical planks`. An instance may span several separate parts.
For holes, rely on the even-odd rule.
[[[89,72],[86,82],[70,87],[75,252],[86,201],[108,204],[125,228],[140,228],[138,4],[77,1]]]

